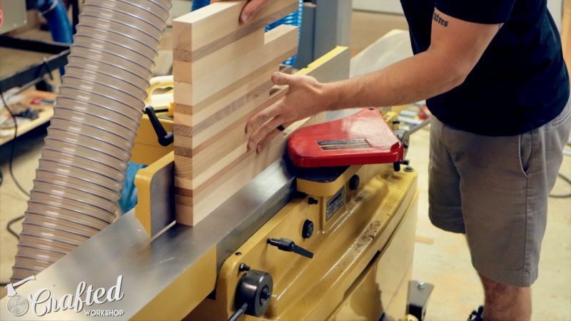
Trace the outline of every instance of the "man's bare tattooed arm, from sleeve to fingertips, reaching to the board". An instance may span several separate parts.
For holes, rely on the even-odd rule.
[[[430,48],[381,71],[335,83],[276,73],[272,80],[289,85],[288,93],[248,121],[248,149],[261,151],[279,133],[278,126],[321,111],[401,105],[450,91],[463,83],[500,26],[455,19],[435,9]]]

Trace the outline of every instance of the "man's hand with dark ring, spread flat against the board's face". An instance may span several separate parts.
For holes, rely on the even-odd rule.
[[[287,73],[273,73],[276,85],[288,85],[285,96],[272,106],[250,118],[246,124],[248,151],[261,152],[266,144],[280,131],[278,126],[288,127],[300,119],[313,116],[330,108],[332,99],[327,85],[310,76],[292,76]]]

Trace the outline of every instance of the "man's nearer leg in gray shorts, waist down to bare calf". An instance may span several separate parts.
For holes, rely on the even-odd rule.
[[[530,320],[547,195],[570,129],[571,102],[555,120],[519,136],[451,135],[470,254],[485,289],[486,321]]]

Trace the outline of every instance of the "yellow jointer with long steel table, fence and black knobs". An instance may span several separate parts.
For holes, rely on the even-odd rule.
[[[326,55],[309,72],[327,61]],[[168,103],[163,115],[171,115]],[[388,123],[395,117],[385,115]],[[172,121],[159,119],[170,131]],[[134,213],[18,287],[19,293],[49,287],[51,296],[60,298],[75,292],[79,282],[109,288],[121,275],[121,300],[96,307],[120,310],[113,319],[228,320],[245,303],[239,320],[405,316],[418,200],[414,170],[351,166],[322,181],[312,173],[297,175],[286,160],[278,161],[188,227],[173,222],[172,146],[156,143],[146,117],[133,161],[148,165],[136,176]],[[280,250],[268,239],[291,241],[313,258]],[[265,289],[270,279],[271,288]],[[2,320],[19,320],[2,311]],[[41,317],[29,311],[25,317],[101,320],[74,310]]]

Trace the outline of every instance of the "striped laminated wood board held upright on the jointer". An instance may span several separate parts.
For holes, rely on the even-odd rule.
[[[263,153],[246,151],[246,122],[283,97],[286,88],[273,86],[271,73],[297,50],[295,27],[264,32],[264,26],[295,11],[298,1],[270,1],[256,20],[242,25],[244,3],[218,2],[173,21],[178,223],[195,225],[228,200],[283,156],[287,135],[307,121],[290,126]],[[330,60],[340,63],[339,54]],[[348,58],[345,63],[348,68]],[[322,67],[338,70],[313,69]]]

